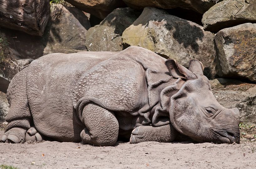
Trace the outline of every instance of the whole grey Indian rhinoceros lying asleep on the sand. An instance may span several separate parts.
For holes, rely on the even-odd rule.
[[[118,137],[172,142],[181,133],[197,142],[239,142],[239,110],[217,102],[202,69],[198,60],[187,69],[136,46],[42,56],[11,81],[0,140],[112,146]]]

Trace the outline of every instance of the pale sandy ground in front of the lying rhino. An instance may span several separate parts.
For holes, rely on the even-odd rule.
[[[0,131],[0,135],[3,131]],[[72,142],[0,143],[0,165],[18,168],[256,168],[256,142],[117,142],[93,147]]]

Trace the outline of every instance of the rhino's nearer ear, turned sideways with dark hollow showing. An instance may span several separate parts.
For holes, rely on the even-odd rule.
[[[196,75],[194,75],[190,70],[188,70],[184,66],[178,64],[173,59],[166,60],[165,65],[167,66],[170,74],[175,78],[182,78],[182,79],[186,79],[186,80],[197,78]]]

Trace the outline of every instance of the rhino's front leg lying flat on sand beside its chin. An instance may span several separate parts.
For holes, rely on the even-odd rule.
[[[153,127],[153,126],[138,126],[132,131],[130,143],[139,143],[147,141],[155,142],[172,142],[177,135],[177,131],[171,124]]]

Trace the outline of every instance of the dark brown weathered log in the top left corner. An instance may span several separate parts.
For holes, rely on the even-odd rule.
[[[0,0],[0,27],[43,35],[50,16],[50,0]]]

